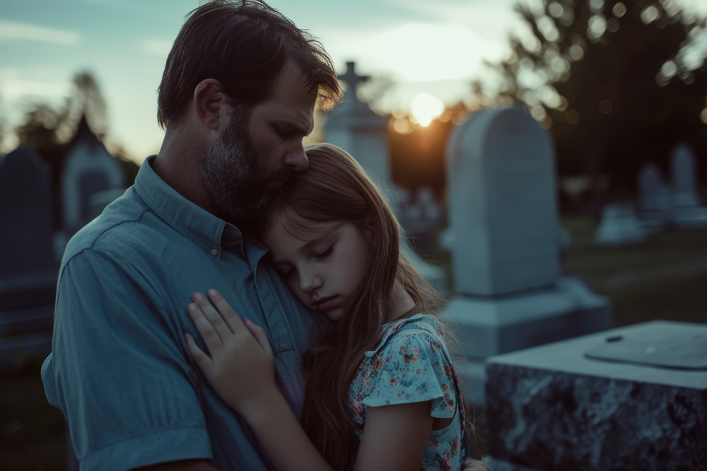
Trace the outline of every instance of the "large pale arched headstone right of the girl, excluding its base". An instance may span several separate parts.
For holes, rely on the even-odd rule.
[[[554,285],[560,274],[550,138],[520,109],[481,113],[448,148],[452,266],[459,294]]]

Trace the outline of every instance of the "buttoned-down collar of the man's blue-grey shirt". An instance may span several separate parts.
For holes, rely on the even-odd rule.
[[[151,155],[135,178],[135,191],[149,208],[175,231],[212,256],[221,251],[243,252],[243,234],[238,227],[192,203],[169,186],[152,169]],[[245,254],[244,254],[245,256]]]

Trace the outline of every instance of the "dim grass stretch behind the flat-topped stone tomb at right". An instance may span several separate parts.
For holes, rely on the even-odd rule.
[[[595,222],[566,217],[571,234],[568,273],[609,299],[614,326],[664,319],[707,319],[707,229],[650,234],[644,244],[602,247],[593,242]]]

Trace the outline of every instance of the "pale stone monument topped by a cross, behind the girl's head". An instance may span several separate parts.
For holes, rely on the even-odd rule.
[[[356,97],[356,87],[367,81],[368,77],[359,76],[355,69],[354,62],[347,62],[346,73],[339,76],[339,80],[348,85],[348,90],[341,105],[327,114],[324,126],[326,140],[356,158],[385,193],[393,212],[399,215],[402,196],[390,179],[387,119],[375,114],[366,103]],[[401,217],[398,217],[398,221],[401,222]],[[441,268],[423,261],[405,242],[402,244],[402,251],[425,280],[437,290],[445,290],[446,283]]]

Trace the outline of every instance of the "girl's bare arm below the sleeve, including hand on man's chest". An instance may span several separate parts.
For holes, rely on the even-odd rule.
[[[241,321],[216,290],[200,293],[187,311],[211,354],[186,334],[187,347],[218,395],[250,425],[278,471],[331,470],[275,386],[265,331]],[[429,401],[368,407],[357,471],[418,471],[432,429]],[[353,433],[353,432],[352,432]]]

